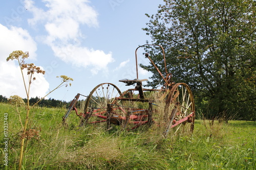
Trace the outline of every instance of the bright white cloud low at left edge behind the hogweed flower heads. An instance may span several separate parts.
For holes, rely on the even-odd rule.
[[[0,24],[0,94],[7,96],[19,95],[26,98],[25,87],[22,80],[22,74],[17,62],[6,61],[10,53],[16,50],[29,52],[30,57],[35,59],[36,43],[29,33],[22,29],[7,27]],[[25,72],[25,80],[28,80]],[[49,83],[42,75],[36,75],[36,80],[31,86],[30,96],[43,96],[49,89]],[[38,90],[40,89],[40,90]]]

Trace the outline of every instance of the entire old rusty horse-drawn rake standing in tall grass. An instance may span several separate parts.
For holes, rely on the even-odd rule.
[[[139,47],[147,46],[145,44]],[[163,62],[165,74],[163,75],[146,53],[152,65],[159,72],[163,79],[164,85],[160,89],[145,89],[138,78],[137,50],[135,51],[137,79],[119,80],[126,86],[134,85],[134,88],[128,89],[123,93],[112,83],[102,83],[97,85],[91,93],[86,96],[85,105],[81,113],[78,113],[76,104],[79,96],[71,102],[66,114],[62,117],[63,124],[72,110],[80,117],[80,126],[86,124],[105,123],[106,129],[119,126],[121,129],[133,130],[143,125],[152,125],[156,123],[163,127],[163,135],[166,136],[171,128],[176,127],[176,132],[194,129],[195,121],[195,104],[193,94],[185,83],[174,83],[172,74],[166,69],[165,54],[163,47],[160,45],[151,45],[161,47],[163,53]],[[83,95],[84,96],[84,95]]]

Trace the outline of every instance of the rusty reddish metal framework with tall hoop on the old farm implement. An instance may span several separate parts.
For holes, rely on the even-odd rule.
[[[164,80],[164,87],[162,87],[161,89],[145,89],[145,88],[142,88],[142,81],[145,81],[144,79],[143,80],[139,80],[139,73],[138,73],[138,58],[137,58],[137,51],[138,51],[138,48],[140,47],[144,47],[144,46],[157,46],[157,47],[160,47],[162,49],[162,53],[163,53],[163,62],[164,62],[164,71],[165,71],[165,75],[162,74],[162,72],[159,70],[158,66],[154,63],[154,61],[150,58],[150,56],[146,53],[145,54],[145,57],[148,58],[150,60],[150,62],[152,63],[152,65],[156,68],[156,70],[158,71],[160,77]],[[99,117],[99,118],[102,118],[103,120],[100,120],[100,121],[96,121],[96,122],[90,122],[89,124],[94,124],[94,123],[101,123],[101,122],[107,122],[108,124],[108,129],[110,128],[110,124],[112,122],[115,122],[116,124],[122,124],[123,128],[126,127],[127,124],[134,124],[136,125],[135,127],[133,127],[132,129],[135,129],[135,128],[138,128],[139,126],[141,125],[144,125],[144,124],[148,124],[149,126],[152,124],[153,122],[153,118],[152,118],[152,112],[153,112],[153,102],[156,102],[156,100],[154,99],[144,99],[144,95],[143,95],[143,92],[144,91],[164,91],[163,95],[160,97],[159,100],[157,101],[162,101],[162,102],[165,102],[166,105],[165,107],[169,106],[170,103],[172,103],[173,101],[173,98],[175,99],[175,91],[177,90],[177,87],[179,85],[184,85],[188,91],[189,94],[191,94],[189,96],[190,100],[192,101],[192,105],[193,105],[193,108],[190,110],[191,113],[189,115],[187,115],[186,117],[182,117],[182,119],[179,119],[179,120],[176,120],[174,117],[175,115],[177,114],[178,110],[175,108],[172,110],[172,113],[170,115],[170,118],[169,118],[169,121],[168,121],[168,125],[166,127],[166,131],[164,132],[166,135],[169,131],[170,128],[173,128],[181,123],[185,123],[185,122],[188,122],[188,123],[191,123],[193,125],[191,125],[191,131],[193,131],[194,129],[194,120],[195,120],[195,103],[194,103],[194,99],[193,99],[193,94],[190,90],[190,88],[188,87],[187,84],[185,83],[173,83],[172,82],[172,74],[168,73],[167,72],[167,68],[166,68],[166,60],[165,60],[165,53],[164,53],[164,49],[161,45],[156,45],[156,44],[144,44],[144,45],[141,45],[139,47],[136,48],[135,50],[135,59],[136,59],[136,76],[137,76],[137,79],[134,79],[134,80],[128,80],[127,82],[125,81],[122,81],[124,83],[129,83],[127,85],[132,85],[132,84],[137,84],[135,88],[131,88],[131,89],[128,89],[126,91],[124,91],[122,94],[121,94],[121,91],[112,83],[108,83],[108,84],[111,84],[112,86],[114,86],[120,96],[119,97],[116,97],[116,101],[131,101],[131,102],[143,102],[143,103],[148,103],[149,104],[149,107],[148,109],[143,109],[143,110],[136,110],[136,108],[134,108],[134,110],[130,110],[130,111],[125,111],[124,108],[122,107],[125,107],[125,106],[118,106],[116,104],[108,104],[108,108],[104,111],[100,111],[100,110],[97,110],[97,108],[95,109],[91,109],[90,111],[87,110],[87,108],[84,109],[84,112],[81,113],[81,114],[78,114],[77,113],[77,109],[75,108],[75,105],[78,101],[78,98],[80,95],[82,94],[77,94],[75,96],[75,99],[71,102],[70,106],[69,106],[69,109],[68,111],[66,112],[66,114],[62,117],[62,122],[63,124],[65,124],[65,120],[66,118],[68,117],[68,115],[70,114],[70,112],[72,110],[75,110],[76,111],[76,114],[78,116],[81,117],[81,124],[80,125],[83,125],[84,122],[87,122],[88,121],[88,118],[90,116],[96,116],[96,117]],[[86,105],[89,103],[89,100],[90,100],[90,96],[93,94],[94,90],[99,87],[100,85],[103,85],[105,83],[102,83],[102,84],[99,84],[98,86],[96,86],[90,93],[89,96],[86,96],[87,97],[87,101],[86,101]],[[131,94],[129,95],[129,91],[131,92]],[[134,93],[134,91],[139,91],[139,95],[138,95],[138,98],[133,98],[132,94]],[[127,94],[129,97],[128,98],[125,98],[125,94]],[[179,103],[175,104],[175,105],[179,105]],[[121,110],[126,116],[121,116],[121,115],[117,115],[115,114],[114,112],[114,108],[113,106],[117,106],[118,108],[116,109],[119,109]],[[168,109],[165,110],[166,112],[168,112]],[[143,112],[143,115],[136,115],[135,113],[142,113]],[[103,115],[104,113],[106,113],[106,116]],[[113,114],[114,113],[114,114]],[[146,113],[146,114],[145,114]],[[116,115],[117,117],[112,117],[112,115]],[[167,115],[167,114],[166,114]],[[147,120],[143,119],[143,118],[147,118]],[[130,120],[135,120],[135,121],[130,121]],[[119,122],[119,123],[118,123]],[[122,123],[121,123],[122,122]],[[113,124],[113,123],[112,123]],[[115,125],[116,125],[115,124]]]

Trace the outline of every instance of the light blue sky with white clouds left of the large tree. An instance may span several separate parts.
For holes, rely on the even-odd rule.
[[[30,96],[44,96],[66,75],[71,87],[61,87],[48,98],[70,101],[77,93],[88,95],[100,83],[135,79],[135,49],[150,36],[147,14],[156,14],[162,0],[43,0],[9,1],[0,6],[0,94],[26,98],[16,61],[6,61],[16,50],[29,52],[27,63],[46,70],[37,75]],[[147,64],[143,48],[138,61]],[[151,76],[139,70],[139,79]]]

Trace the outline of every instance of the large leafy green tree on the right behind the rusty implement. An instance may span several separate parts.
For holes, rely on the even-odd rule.
[[[176,82],[187,83],[203,111],[239,113],[255,120],[255,0],[164,0],[148,16],[146,28],[153,44],[165,48],[167,68]],[[151,56],[163,69],[161,51]],[[160,82],[153,72],[149,86]],[[207,105],[207,107],[206,107]]]

